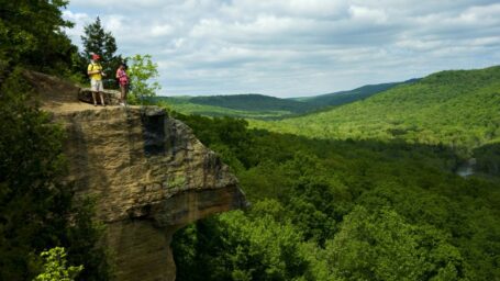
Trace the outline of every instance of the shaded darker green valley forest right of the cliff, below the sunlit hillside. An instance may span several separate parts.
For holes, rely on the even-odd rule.
[[[449,147],[177,117],[231,159],[253,204],[175,235],[178,280],[500,278],[498,181],[454,175]]]

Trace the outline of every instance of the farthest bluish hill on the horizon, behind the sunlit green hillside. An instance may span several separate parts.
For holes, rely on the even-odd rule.
[[[366,85],[349,91],[340,91],[326,94],[320,94],[314,97],[304,98],[292,98],[291,100],[307,102],[313,105],[315,109],[321,109],[329,105],[342,105],[357,100],[369,98],[376,93],[387,91],[399,85],[412,83],[419,79],[411,79],[403,82],[391,82],[391,83],[378,83],[378,85]]]

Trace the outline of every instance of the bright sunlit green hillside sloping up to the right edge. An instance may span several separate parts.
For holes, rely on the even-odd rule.
[[[500,66],[441,71],[329,111],[252,125],[308,137],[399,138],[469,149],[500,142]]]

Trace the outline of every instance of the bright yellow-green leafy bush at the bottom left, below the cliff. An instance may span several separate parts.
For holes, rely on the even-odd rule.
[[[40,256],[44,259],[44,271],[34,281],[73,281],[84,269],[84,266],[68,267],[67,255],[62,247],[42,251]]]

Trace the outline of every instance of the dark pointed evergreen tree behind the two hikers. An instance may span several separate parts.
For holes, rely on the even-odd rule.
[[[105,72],[104,87],[116,88],[118,85],[114,81],[114,71],[122,63],[123,58],[116,53],[116,40],[113,37],[111,32],[104,31],[101,24],[101,19],[98,16],[95,23],[85,26],[85,35],[81,36],[84,44],[84,53],[81,56],[85,58],[85,65],[82,69],[87,74],[87,63],[91,54],[98,54],[101,56],[101,64]]]

